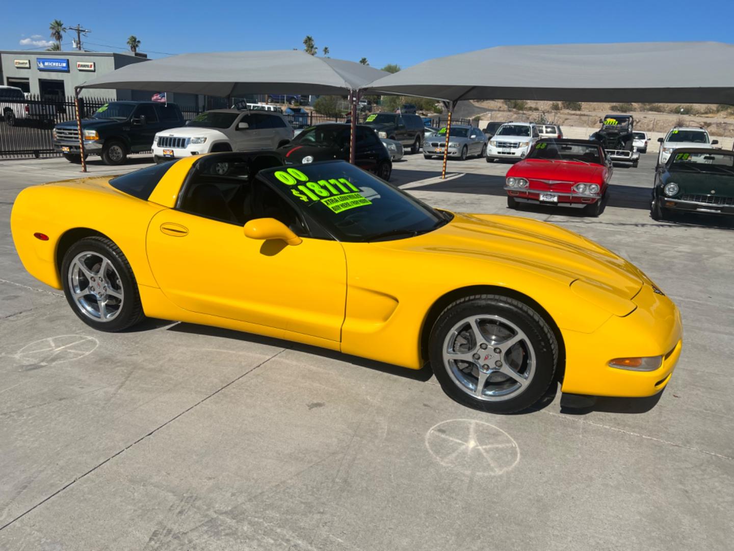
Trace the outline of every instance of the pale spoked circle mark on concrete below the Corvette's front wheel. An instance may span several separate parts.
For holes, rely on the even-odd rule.
[[[501,428],[474,419],[450,419],[426,433],[436,461],[465,475],[503,475],[520,461],[517,442]]]

